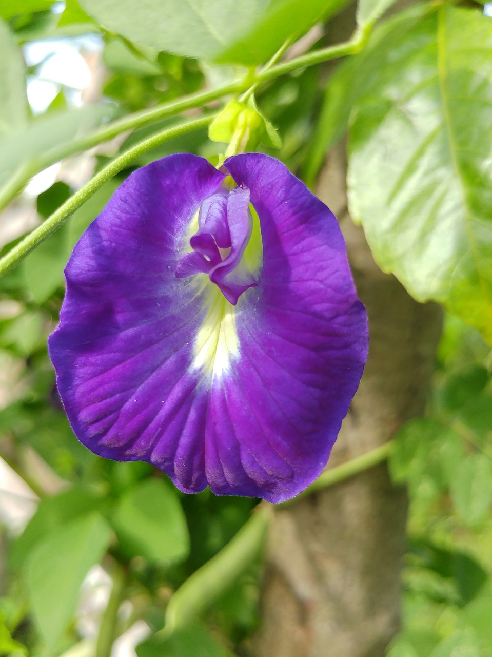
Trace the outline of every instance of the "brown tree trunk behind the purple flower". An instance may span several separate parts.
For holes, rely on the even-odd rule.
[[[369,313],[370,350],[328,467],[422,415],[441,332],[441,309],[418,304],[383,274],[351,222],[345,152],[330,152],[317,194],[340,219]],[[255,656],[382,657],[399,628],[406,515],[405,489],[391,484],[386,463],[277,510]]]

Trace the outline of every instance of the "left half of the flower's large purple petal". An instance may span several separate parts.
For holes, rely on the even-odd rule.
[[[49,340],[79,440],[109,459],[154,461],[187,491],[207,484],[206,391],[189,372],[207,306],[175,270],[192,217],[223,178],[187,154],[135,171],[76,245]]]

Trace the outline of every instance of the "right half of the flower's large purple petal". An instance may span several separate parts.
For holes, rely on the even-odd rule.
[[[250,153],[225,166],[250,189],[263,270],[238,301],[238,355],[214,380],[207,421],[213,490],[292,497],[323,469],[367,358],[334,215],[278,160]]]

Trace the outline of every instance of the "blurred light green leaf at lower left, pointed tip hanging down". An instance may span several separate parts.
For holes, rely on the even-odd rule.
[[[93,513],[58,526],[34,549],[26,564],[26,583],[35,623],[51,650],[72,619],[89,568],[108,549],[111,530]]]

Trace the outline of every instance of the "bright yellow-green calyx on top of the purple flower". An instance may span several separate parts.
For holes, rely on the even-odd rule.
[[[256,150],[262,143],[270,148],[280,148],[280,137],[273,125],[259,112],[254,98],[247,102],[231,101],[210,124],[208,137],[229,146],[225,156]]]

